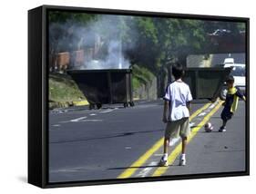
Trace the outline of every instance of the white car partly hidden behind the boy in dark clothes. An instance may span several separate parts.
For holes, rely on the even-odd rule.
[[[230,75],[234,77],[234,85],[237,86],[241,92],[245,92],[245,83],[246,83],[246,77],[245,77],[245,64],[243,63],[234,63],[233,58],[226,58],[224,60],[224,68],[233,67]],[[221,92],[220,92],[220,99],[225,100],[226,94],[227,94],[227,87],[223,86]]]

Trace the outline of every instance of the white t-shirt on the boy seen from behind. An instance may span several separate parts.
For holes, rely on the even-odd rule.
[[[164,100],[169,101],[169,121],[189,117],[187,102],[192,101],[189,85],[182,81],[171,82],[166,89]]]

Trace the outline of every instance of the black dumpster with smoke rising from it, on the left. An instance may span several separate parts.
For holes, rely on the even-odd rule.
[[[70,70],[67,73],[87,97],[90,109],[114,103],[134,106],[131,69]]]

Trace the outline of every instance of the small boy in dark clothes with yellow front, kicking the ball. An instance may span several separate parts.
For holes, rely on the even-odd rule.
[[[234,86],[234,77],[230,75],[227,80],[228,92],[226,100],[223,103],[223,111],[221,112],[222,126],[220,127],[220,132],[226,131],[226,124],[229,121],[233,113],[237,110],[239,98],[245,101],[245,96],[242,94],[239,88]]]

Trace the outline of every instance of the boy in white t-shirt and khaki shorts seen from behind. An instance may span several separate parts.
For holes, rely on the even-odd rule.
[[[186,165],[185,149],[190,133],[189,112],[192,96],[189,85],[181,80],[181,77],[184,75],[183,67],[180,64],[173,65],[172,74],[175,81],[168,85],[163,98],[164,110],[162,121],[167,123],[167,125],[163,145],[164,153],[160,160],[160,165],[168,166],[169,139],[180,136],[182,140],[182,154],[179,158],[179,165],[184,166]],[[167,112],[169,113],[168,115]]]

